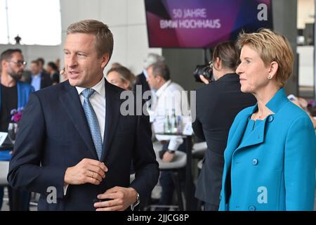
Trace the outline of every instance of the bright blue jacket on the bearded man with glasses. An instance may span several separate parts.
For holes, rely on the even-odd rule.
[[[34,87],[30,84],[27,84],[25,82],[17,82],[17,88],[18,88],[18,108],[25,107],[27,104],[27,101],[29,101],[29,95],[34,92]],[[0,111],[1,111],[1,85],[0,85]],[[9,153],[9,150],[3,150],[0,151],[0,160],[2,161],[8,161],[11,160],[11,154]]]

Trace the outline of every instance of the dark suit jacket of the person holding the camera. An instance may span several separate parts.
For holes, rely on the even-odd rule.
[[[195,196],[211,205],[219,205],[226,148],[230,126],[240,110],[254,105],[256,98],[240,91],[239,76],[224,75],[197,90],[195,134],[207,143],[204,164]]]

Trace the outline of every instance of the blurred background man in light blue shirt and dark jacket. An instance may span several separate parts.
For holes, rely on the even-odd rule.
[[[51,86],[53,84],[53,82],[51,82],[51,77],[49,77],[46,72],[41,70],[37,60],[33,60],[31,62],[31,72],[32,75],[25,77],[25,82],[32,84],[35,91],[44,89],[47,86]]]

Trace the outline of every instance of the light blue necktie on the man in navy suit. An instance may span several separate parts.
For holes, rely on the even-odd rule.
[[[94,112],[92,105],[89,101],[90,96],[94,93],[93,89],[85,89],[82,91],[82,96],[84,96],[84,114],[86,114],[86,120],[88,120],[91,136],[93,139],[94,146],[96,147],[96,152],[100,160],[102,155],[102,136],[100,132],[100,127],[98,123],[98,117],[96,112]]]

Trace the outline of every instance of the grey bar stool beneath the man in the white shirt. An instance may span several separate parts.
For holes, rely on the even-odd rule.
[[[187,164],[187,154],[176,150],[175,156],[171,162],[162,162],[162,160],[159,158],[158,152],[155,151],[157,162],[159,163],[159,169],[161,171],[170,171],[172,172],[173,182],[176,189],[176,195],[178,198],[178,209],[180,211],[183,211],[183,197],[181,193],[180,188],[180,180],[179,180],[179,172],[180,169],[185,167]],[[161,207],[161,206],[159,206]],[[173,207],[170,205],[169,207]]]

